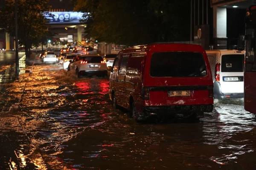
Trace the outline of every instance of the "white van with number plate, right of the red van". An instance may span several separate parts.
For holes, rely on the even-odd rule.
[[[214,98],[244,97],[244,51],[207,50],[212,70]]]

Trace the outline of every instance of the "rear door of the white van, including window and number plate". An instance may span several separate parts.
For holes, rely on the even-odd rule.
[[[244,55],[221,56],[220,84],[222,93],[244,93]]]

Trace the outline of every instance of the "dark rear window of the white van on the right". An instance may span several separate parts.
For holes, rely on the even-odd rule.
[[[243,72],[244,55],[229,54],[221,58],[221,72]]]

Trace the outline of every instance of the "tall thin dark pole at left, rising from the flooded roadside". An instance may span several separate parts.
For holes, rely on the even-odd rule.
[[[18,49],[18,6],[17,0],[14,1],[15,3],[15,64],[16,64],[16,79],[19,78],[19,49]]]

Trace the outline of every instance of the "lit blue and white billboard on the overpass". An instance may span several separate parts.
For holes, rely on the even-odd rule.
[[[86,19],[83,18],[83,12],[46,12],[45,17],[49,20],[50,24],[61,24],[61,23],[70,23],[78,24],[80,20]]]

